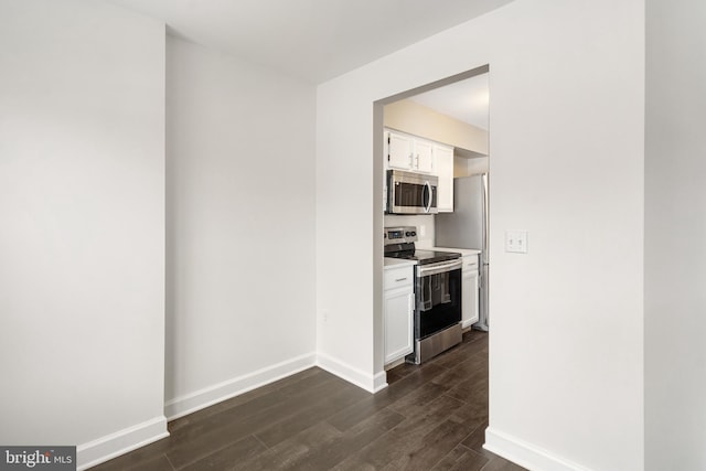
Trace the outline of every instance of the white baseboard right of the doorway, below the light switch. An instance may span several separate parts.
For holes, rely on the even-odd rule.
[[[483,448],[528,470],[590,471],[586,467],[490,427],[485,429]]]

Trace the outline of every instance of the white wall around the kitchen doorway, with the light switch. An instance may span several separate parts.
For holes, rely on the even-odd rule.
[[[532,469],[643,467],[643,10],[516,0],[318,88],[318,344],[372,384],[373,103],[490,64],[488,445]],[[502,251],[515,228],[530,233],[527,255]],[[334,240],[357,256],[327,257]]]

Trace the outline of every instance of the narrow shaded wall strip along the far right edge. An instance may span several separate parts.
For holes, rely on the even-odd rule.
[[[645,469],[706,469],[706,4],[646,2]]]

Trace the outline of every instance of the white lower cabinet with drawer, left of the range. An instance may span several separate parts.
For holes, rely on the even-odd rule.
[[[385,364],[414,351],[414,266],[385,270],[383,283]]]

